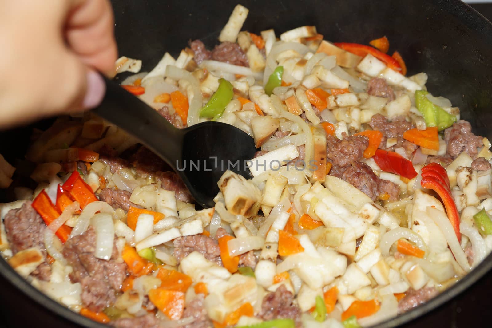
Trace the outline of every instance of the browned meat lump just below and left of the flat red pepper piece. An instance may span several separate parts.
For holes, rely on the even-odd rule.
[[[352,162],[342,174],[343,180],[347,181],[372,200],[375,200],[378,195],[387,193],[390,195],[390,200],[398,199],[400,187],[389,180],[379,179],[372,169],[364,163]]]

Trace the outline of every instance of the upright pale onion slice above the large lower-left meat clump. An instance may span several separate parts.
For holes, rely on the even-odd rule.
[[[98,259],[109,260],[113,253],[115,240],[115,225],[110,213],[97,213],[92,217],[92,226],[95,229],[94,256]]]

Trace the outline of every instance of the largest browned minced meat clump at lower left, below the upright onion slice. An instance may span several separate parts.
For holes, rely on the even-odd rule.
[[[70,280],[82,284],[82,303],[91,311],[100,312],[115,302],[126,277],[126,265],[117,260],[116,240],[110,260],[96,258],[95,239],[96,233],[89,227],[82,235],[68,239],[62,254],[73,268]]]

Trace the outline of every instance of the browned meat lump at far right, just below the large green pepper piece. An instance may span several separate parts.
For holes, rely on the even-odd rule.
[[[444,130],[444,141],[448,145],[448,154],[456,158],[461,152],[466,151],[471,157],[477,154],[477,147],[483,146],[482,137],[471,132],[471,124],[460,119],[453,126]]]

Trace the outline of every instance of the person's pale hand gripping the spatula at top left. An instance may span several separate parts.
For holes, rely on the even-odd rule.
[[[113,29],[109,0],[0,1],[0,129],[97,106]]]

